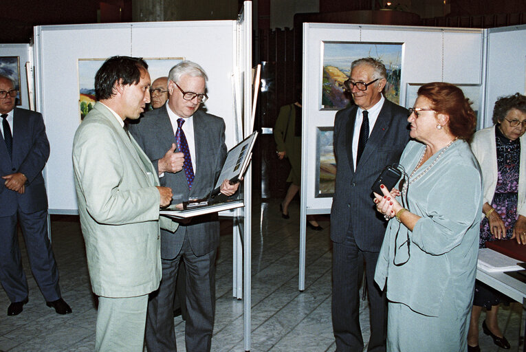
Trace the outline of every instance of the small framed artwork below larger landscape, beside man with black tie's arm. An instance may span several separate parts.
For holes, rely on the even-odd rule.
[[[316,127],[316,198],[333,197],[336,159],[333,149],[334,127]]]

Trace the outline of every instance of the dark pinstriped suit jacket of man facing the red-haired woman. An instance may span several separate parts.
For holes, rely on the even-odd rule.
[[[334,120],[334,155],[336,189],[331,208],[331,240],[342,243],[352,230],[360,250],[379,252],[387,222],[374,209],[371,186],[387,164],[398,162],[409,140],[408,111],[385,100],[353,170],[352,138],[358,107],[336,113]]]

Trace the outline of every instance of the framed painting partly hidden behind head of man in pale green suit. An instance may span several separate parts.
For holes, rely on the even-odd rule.
[[[95,74],[106,58],[79,58],[78,59],[78,105],[80,121],[95,106]],[[168,76],[170,69],[184,61],[184,57],[175,58],[144,58],[148,64],[151,81],[163,76]]]

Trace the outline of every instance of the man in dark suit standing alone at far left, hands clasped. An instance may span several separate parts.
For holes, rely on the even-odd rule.
[[[48,307],[58,314],[72,309],[61,298],[50,239],[47,237],[47,195],[42,169],[50,156],[40,113],[14,107],[17,89],[0,76],[0,282],[11,301],[8,316],[16,316],[28,303],[28,281],[22,269],[17,238],[19,223],[31,270]]]

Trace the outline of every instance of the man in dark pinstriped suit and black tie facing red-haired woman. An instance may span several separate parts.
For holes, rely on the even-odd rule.
[[[356,106],[338,111],[334,121],[338,168],[331,209],[332,321],[338,352],[364,348],[358,293],[363,261],[371,304],[368,351],[386,349],[385,296],[373,279],[386,221],[373,207],[371,186],[384,166],[398,162],[409,140],[408,111],[382,95],[386,78],[380,61],[354,61],[345,85]]]

